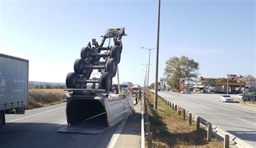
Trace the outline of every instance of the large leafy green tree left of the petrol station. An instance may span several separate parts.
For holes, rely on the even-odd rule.
[[[178,89],[180,78],[196,81],[198,77],[199,63],[186,56],[172,57],[165,62],[164,75],[169,78],[167,84]]]

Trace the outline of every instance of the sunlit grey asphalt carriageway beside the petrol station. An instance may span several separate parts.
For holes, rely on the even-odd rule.
[[[256,107],[219,102],[220,94],[178,94],[158,91],[158,95],[256,147]],[[235,98],[235,95],[233,97]]]

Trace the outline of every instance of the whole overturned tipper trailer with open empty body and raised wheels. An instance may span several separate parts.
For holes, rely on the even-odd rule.
[[[123,36],[124,28],[107,29],[100,45],[92,39],[93,47],[89,43],[82,48],[74,64],[75,73],[66,76],[66,90],[70,92],[64,96],[68,125],[58,132],[96,134],[132,114],[131,95],[109,94],[123,50]],[[113,38],[113,46],[103,47],[107,38]],[[99,78],[91,76],[93,69],[101,74]]]

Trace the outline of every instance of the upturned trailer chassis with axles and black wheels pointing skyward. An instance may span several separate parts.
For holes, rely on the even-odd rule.
[[[75,73],[69,73],[66,77],[67,88],[86,88],[87,83],[93,83],[92,88],[95,88],[99,83],[100,89],[110,91],[112,88],[112,77],[116,75],[117,64],[120,62],[121,53],[123,50],[122,37],[126,36],[124,28],[107,29],[100,45],[96,39],[92,39],[92,45],[89,42],[87,47],[83,47],[80,52],[80,58],[76,59],[74,64]],[[103,47],[107,38],[113,38],[114,46]],[[106,51],[105,53],[100,53]],[[100,58],[105,59],[105,62],[100,62]],[[102,73],[99,79],[90,80],[93,69],[98,69]],[[106,73],[104,75],[104,73]],[[104,76],[103,76],[104,75]],[[111,80],[110,80],[111,79]]]

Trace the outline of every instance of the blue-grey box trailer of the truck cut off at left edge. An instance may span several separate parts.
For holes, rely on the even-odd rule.
[[[5,114],[28,105],[28,82],[29,60],[0,53],[0,128]]]

